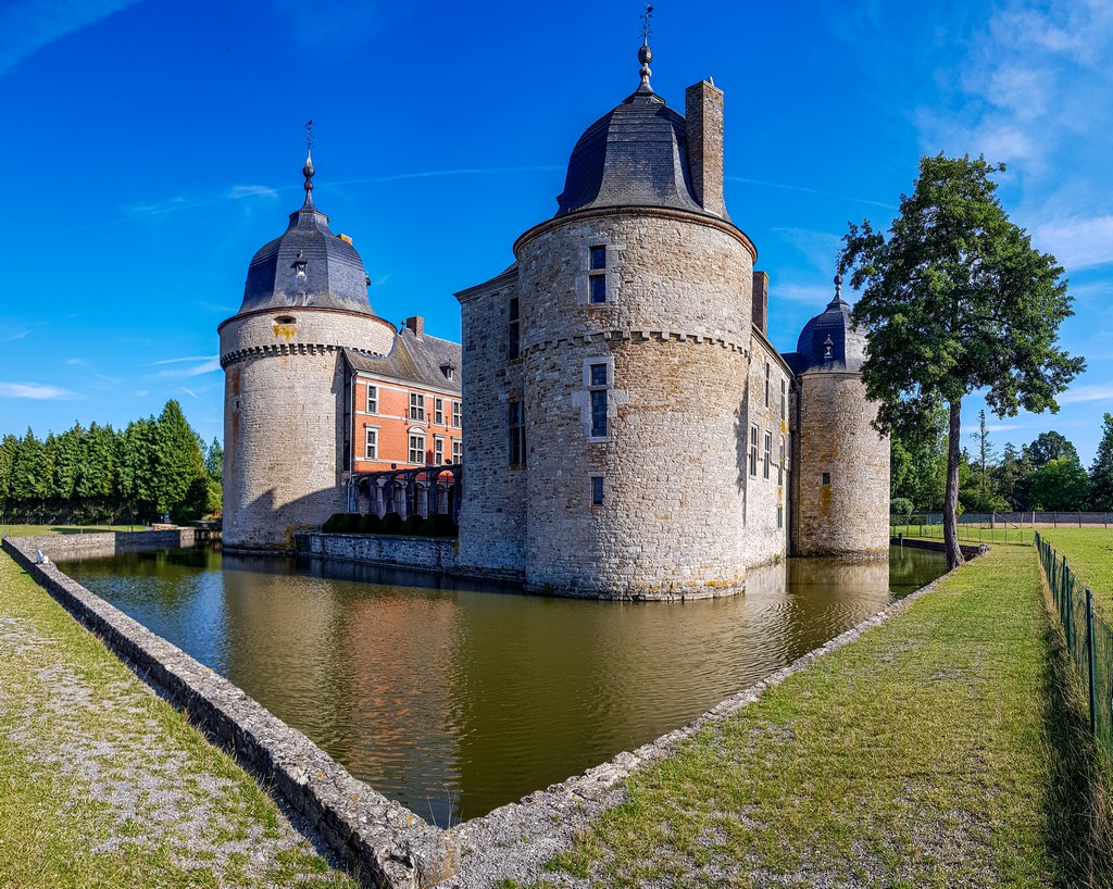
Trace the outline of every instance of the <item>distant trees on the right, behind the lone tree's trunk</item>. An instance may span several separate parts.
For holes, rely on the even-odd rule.
[[[915,442],[893,437],[894,504],[907,501],[908,508],[942,508],[947,468],[944,422],[945,416]],[[1008,443],[998,452],[984,411],[971,438],[973,447],[963,450],[958,467],[958,503],[964,512],[1113,512],[1113,414],[1105,414],[1089,472],[1074,445],[1057,432],[1041,433],[1020,448]]]

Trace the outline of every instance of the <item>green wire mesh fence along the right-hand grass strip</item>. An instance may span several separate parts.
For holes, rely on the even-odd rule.
[[[1083,697],[1089,699],[1090,729],[1097,739],[1106,773],[1113,776],[1113,628],[1103,611],[1094,608],[1092,592],[1075,576],[1066,556],[1055,552],[1038,531],[1034,542],[1074,671],[1082,682]]]

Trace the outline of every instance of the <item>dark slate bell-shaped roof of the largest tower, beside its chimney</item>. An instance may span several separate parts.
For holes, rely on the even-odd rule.
[[[643,85],[572,149],[556,216],[597,207],[668,207],[703,214],[692,194],[684,119]]]

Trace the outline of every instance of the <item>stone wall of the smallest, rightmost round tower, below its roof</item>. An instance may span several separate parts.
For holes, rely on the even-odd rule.
[[[794,554],[887,555],[889,441],[870,425],[877,406],[857,374],[807,373],[798,385]]]

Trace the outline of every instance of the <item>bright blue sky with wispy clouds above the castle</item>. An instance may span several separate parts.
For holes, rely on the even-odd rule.
[[[452,294],[511,263],[580,134],[637,87],[640,12],[0,0],[0,434],[177,398],[220,435],[216,327],[301,204],[308,118],[314,199],[372,306],[459,338]],[[673,107],[702,78],[726,91],[727,204],[782,350],[830,298],[847,221],[887,228],[920,155],[1008,164],[1002,201],[1066,267],[1062,343],[1089,369],[1060,414],[991,429],[998,447],[1058,429],[1090,464],[1113,411],[1113,4],[660,0],[651,42]]]

